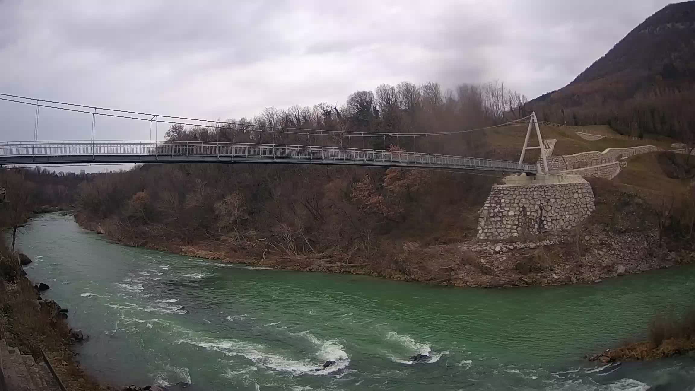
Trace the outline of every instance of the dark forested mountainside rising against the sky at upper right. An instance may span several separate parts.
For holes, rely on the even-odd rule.
[[[542,120],[695,141],[695,1],[648,17],[568,86],[529,102]]]

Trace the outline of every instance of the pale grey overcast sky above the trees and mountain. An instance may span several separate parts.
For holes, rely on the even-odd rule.
[[[532,98],[565,86],[667,3],[0,0],[0,92],[221,119],[340,104],[400,81],[500,79]],[[0,122],[0,140],[32,139],[32,113],[0,102],[0,116],[24,118]],[[89,121],[40,127],[39,138],[89,138]],[[147,138],[136,128],[97,138]]]

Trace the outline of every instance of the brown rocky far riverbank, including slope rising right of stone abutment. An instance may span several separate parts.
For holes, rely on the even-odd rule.
[[[458,287],[596,283],[695,260],[693,244],[667,230],[669,222],[660,221],[663,214],[655,205],[614,182],[596,178],[589,182],[595,210],[571,230],[519,235],[514,241],[475,239],[473,231],[459,238],[383,237],[372,252],[344,248],[315,252],[311,246],[300,251],[283,248],[281,242],[272,244],[277,237],[258,232],[190,243],[167,241],[161,232],[148,234],[158,232],[155,228],[135,238],[124,237],[123,221],[90,220],[79,212],[75,219],[81,227],[128,246],[275,269],[366,274]]]

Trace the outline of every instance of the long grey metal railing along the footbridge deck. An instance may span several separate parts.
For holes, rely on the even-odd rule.
[[[318,147],[311,145],[277,145],[256,143],[206,143],[188,141],[15,141],[0,143],[0,161],[18,157],[92,157],[99,161],[104,156],[141,157],[141,161],[153,159],[181,158],[195,160],[197,157],[234,161],[282,161],[314,162],[333,161],[381,166],[438,166],[471,168],[525,173],[536,172],[534,164],[514,161],[459,157],[443,154],[424,154],[385,150],[366,150],[343,147]],[[3,159],[5,158],[5,159]],[[169,159],[171,160],[171,159]]]

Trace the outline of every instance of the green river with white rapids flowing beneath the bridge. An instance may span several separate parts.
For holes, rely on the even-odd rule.
[[[598,285],[461,289],[277,271],[120,246],[44,214],[17,238],[89,335],[82,367],[187,390],[694,390],[692,356],[600,366],[655,312],[692,303],[695,268]],[[410,362],[417,353],[427,362]],[[316,371],[327,360],[328,369]]]

